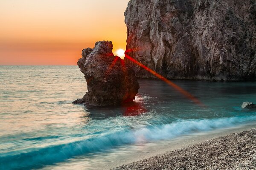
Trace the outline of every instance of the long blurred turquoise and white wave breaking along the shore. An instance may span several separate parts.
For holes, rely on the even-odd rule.
[[[109,130],[90,136],[89,139],[44,148],[29,148],[0,153],[0,169],[32,169],[65,161],[74,156],[108,150],[125,144],[153,142],[172,139],[175,136],[203,132],[218,128],[242,125],[256,121],[256,116],[237,116],[218,119],[189,119],[166,125],[150,125],[139,129]]]

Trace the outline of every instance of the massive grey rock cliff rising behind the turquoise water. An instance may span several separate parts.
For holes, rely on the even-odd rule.
[[[255,0],[131,0],[125,23],[127,54],[169,79],[256,79]]]

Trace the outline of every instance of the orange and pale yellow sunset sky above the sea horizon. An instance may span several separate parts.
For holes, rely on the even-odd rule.
[[[0,65],[76,65],[102,40],[116,54],[126,46],[128,1],[0,0]]]

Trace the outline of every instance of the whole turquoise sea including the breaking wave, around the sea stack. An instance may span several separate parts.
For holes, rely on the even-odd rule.
[[[88,109],[72,104],[87,91],[76,66],[0,66],[0,170],[97,169],[153,143],[256,122],[240,108],[256,103],[256,82],[174,81],[207,107],[160,80],[139,82],[132,104]]]

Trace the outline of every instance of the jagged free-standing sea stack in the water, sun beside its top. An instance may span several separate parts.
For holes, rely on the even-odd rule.
[[[140,88],[134,71],[112,53],[112,42],[96,42],[82,51],[78,65],[87,82],[88,92],[74,104],[87,106],[121,105],[135,99]]]

